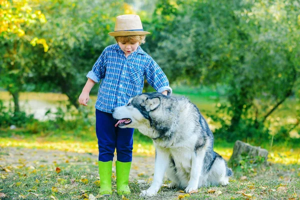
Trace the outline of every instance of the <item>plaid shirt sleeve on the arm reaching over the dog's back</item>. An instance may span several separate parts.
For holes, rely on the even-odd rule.
[[[146,76],[147,82],[157,91],[167,91],[167,95],[172,93],[172,88],[169,87],[169,81],[166,75],[158,64],[149,57],[147,66],[145,67],[144,75]]]

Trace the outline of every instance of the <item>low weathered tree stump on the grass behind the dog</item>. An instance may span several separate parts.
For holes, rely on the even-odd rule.
[[[260,146],[252,146],[248,143],[236,140],[233,147],[233,153],[229,159],[229,163],[239,163],[241,159],[249,159],[252,162],[266,164],[267,150]]]

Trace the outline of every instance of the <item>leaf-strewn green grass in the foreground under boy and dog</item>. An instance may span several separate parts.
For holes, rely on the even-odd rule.
[[[83,164],[78,164],[78,161]],[[112,196],[104,198],[98,194],[97,165],[83,156],[77,157],[76,162],[43,164],[40,161],[29,167],[22,160],[18,162],[17,166],[8,167],[11,172],[0,174],[0,192],[6,195],[3,199],[88,199],[90,194],[98,199],[122,199],[116,194],[114,175]],[[56,167],[60,168],[59,172]],[[299,165],[269,165],[262,170],[257,169],[262,176],[259,179],[247,176],[241,180],[233,177],[227,186],[200,187],[198,192],[184,199],[288,199],[300,194],[298,167]],[[279,178],[274,178],[278,175]],[[164,182],[156,196],[147,199],[178,199],[179,195],[184,195],[180,192],[184,189],[169,189],[165,187],[167,183]],[[134,179],[129,182],[131,194],[126,197],[144,199],[139,197],[139,193],[149,186],[149,182],[139,184]]]

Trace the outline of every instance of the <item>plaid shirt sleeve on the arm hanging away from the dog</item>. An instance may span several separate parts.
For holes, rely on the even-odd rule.
[[[91,71],[88,71],[86,77],[92,79],[94,82],[99,82],[105,76],[106,71],[106,48],[102,51],[94,63]]]

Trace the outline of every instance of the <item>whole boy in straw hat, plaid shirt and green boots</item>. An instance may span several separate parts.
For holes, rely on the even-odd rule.
[[[118,128],[111,115],[111,109],[125,105],[131,96],[142,92],[143,76],[158,92],[170,95],[172,89],[168,80],[139,44],[145,42],[145,35],[138,15],[125,14],[116,17],[113,32],[117,44],[107,46],[92,70],[79,96],[79,103],[87,105],[89,92],[101,80],[95,103],[96,135],[98,139],[98,166],[100,191],[102,195],[111,194],[111,166],[116,148],[116,188],[118,194],[128,194],[129,172],[132,160],[133,128]]]

